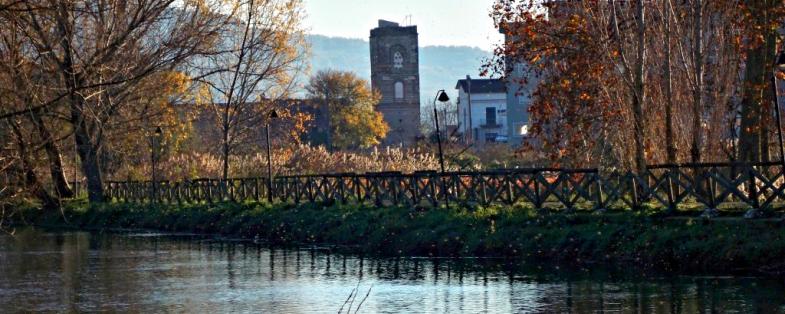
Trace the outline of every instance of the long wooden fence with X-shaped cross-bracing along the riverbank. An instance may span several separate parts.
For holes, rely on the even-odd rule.
[[[301,203],[438,206],[445,203],[529,203],[574,209],[680,206],[771,209],[785,200],[779,163],[651,166],[643,175],[597,169],[510,169],[478,172],[344,173],[182,182],[108,182],[116,202],[201,203],[266,199]]]

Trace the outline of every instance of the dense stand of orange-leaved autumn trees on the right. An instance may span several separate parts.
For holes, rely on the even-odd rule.
[[[644,164],[774,158],[763,77],[781,1],[499,0],[491,15],[507,40],[486,74],[538,82],[525,147],[554,164],[635,169],[638,140]]]

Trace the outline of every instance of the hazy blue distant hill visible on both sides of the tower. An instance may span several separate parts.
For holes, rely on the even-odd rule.
[[[311,72],[334,69],[356,72],[370,81],[371,56],[368,41],[322,35],[309,35]],[[489,47],[490,48],[490,47]],[[420,47],[420,97],[432,101],[437,90],[455,95],[455,83],[467,74],[478,77],[484,60],[492,53],[467,46]]]

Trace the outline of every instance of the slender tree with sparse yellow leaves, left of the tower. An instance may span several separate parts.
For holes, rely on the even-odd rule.
[[[221,130],[224,179],[229,156],[257,134],[273,105],[296,86],[306,52],[300,0],[237,1],[234,7],[220,53],[194,63]]]

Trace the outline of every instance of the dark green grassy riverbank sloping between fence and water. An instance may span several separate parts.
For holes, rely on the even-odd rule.
[[[28,223],[46,226],[211,233],[276,245],[338,245],[385,256],[500,256],[718,274],[785,270],[785,225],[777,220],[664,219],[629,211],[538,214],[524,207],[415,210],[258,203],[71,204],[63,213],[26,210],[24,216]]]

